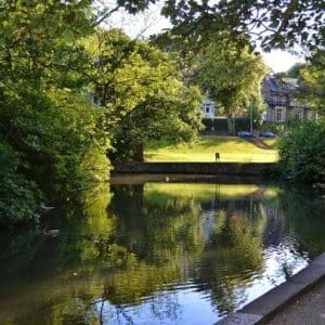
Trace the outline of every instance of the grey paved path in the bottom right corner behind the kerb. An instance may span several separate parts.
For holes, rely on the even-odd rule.
[[[268,325],[324,325],[325,281],[274,316]]]

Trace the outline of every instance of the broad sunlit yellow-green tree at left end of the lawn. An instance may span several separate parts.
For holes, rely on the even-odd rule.
[[[119,29],[99,30],[88,42],[94,96],[106,112],[114,159],[143,160],[151,139],[191,140],[200,129],[200,94],[182,82],[167,53]]]

